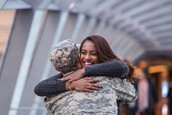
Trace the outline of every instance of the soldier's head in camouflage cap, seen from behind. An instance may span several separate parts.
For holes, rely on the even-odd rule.
[[[77,66],[78,47],[70,40],[63,40],[50,51],[49,59],[57,71],[70,72]]]

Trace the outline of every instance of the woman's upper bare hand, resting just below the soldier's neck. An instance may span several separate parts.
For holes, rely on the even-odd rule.
[[[84,75],[85,75],[85,69],[82,68],[82,69],[79,69],[76,72],[74,72],[74,73],[72,73],[72,74],[70,74],[70,75],[62,78],[61,80],[68,81],[68,82],[72,82],[72,81],[76,81],[78,79],[83,78]]]

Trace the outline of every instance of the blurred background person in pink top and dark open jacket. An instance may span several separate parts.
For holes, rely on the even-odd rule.
[[[128,115],[155,115],[155,105],[158,102],[158,95],[155,85],[151,81],[148,68],[139,73],[140,80],[135,87],[138,92],[138,99],[128,104]]]

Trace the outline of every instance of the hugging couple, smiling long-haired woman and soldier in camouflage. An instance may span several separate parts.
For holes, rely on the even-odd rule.
[[[102,36],[86,37],[80,48],[70,39],[61,41],[49,58],[60,73],[34,89],[45,96],[49,115],[118,115],[118,101],[137,99],[134,67],[117,57]]]

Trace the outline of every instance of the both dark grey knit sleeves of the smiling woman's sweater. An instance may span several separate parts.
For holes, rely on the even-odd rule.
[[[122,61],[112,60],[100,64],[94,64],[85,68],[86,76],[107,76],[124,79],[129,73],[127,64]],[[57,74],[39,82],[34,92],[38,96],[51,96],[66,92],[65,82],[59,80],[62,74]]]

